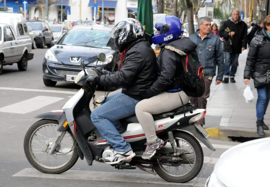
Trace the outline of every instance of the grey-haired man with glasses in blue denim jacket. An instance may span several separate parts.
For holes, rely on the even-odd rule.
[[[200,64],[203,66],[205,93],[199,98],[191,97],[190,101],[198,108],[206,109],[207,98],[210,96],[210,85],[213,77],[217,78],[215,84],[222,82],[224,74],[224,59],[223,49],[219,37],[211,32],[211,19],[208,17],[201,17],[198,21],[199,29],[189,38],[197,44],[197,53]],[[205,124],[204,118],[199,121],[201,125]]]

